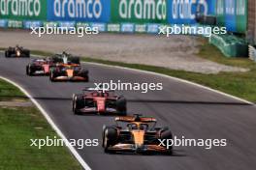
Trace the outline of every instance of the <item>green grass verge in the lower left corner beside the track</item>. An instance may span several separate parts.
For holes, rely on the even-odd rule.
[[[0,87],[13,89],[12,97],[23,96],[13,85],[3,80],[0,80]],[[9,89],[4,93],[2,91],[0,97],[3,94],[10,95],[10,92]],[[66,147],[45,147],[41,150],[30,147],[30,139],[57,136],[35,107],[0,107],[0,134],[0,169],[81,169]]]

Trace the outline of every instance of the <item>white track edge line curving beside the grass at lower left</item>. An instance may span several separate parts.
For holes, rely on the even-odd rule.
[[[38,107],[38,109],[41,111],[41,113],[45,116],[45,118],[48,121],[48,124],[51,126],[51,128],[53,128],[56,133],[65,141],[68,141],[66,136],[61,132],[61,130],[56,126],[56,124],[54,124],[54,122],[51,120],[51,118],[48,116],[47,111],[39,104],[39,102],[34,99],[25,89],[23,89],[21,86],[19,86],[15,81],[3,77],[0,75],[0,78],[15,85],[21,92],[23,92],[29,99],[31,99],[31,101]],[[68,149],[70,150],[70,152],[78,159],[78,161],[80,162],[80,165],[83,167],[84,170],[91,170],[91,168],[88,166],[88,164],[81,158],[80,154],[77,152],[77,150],[71,146],[71,145],[66,145],[68,147]]]

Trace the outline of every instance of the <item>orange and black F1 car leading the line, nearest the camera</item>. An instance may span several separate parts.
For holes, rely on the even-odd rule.
[[[159,139],[172,139],[169,128],[155,128],[156,119],[134,116],[115,118],[115,125],[103,128],[102,146],[106,153],[173,153],[173,147],[160,145]]]

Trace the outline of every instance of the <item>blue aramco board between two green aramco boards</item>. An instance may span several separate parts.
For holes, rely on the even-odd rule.
[[[109,0],[48,0],[48,20],[108,22]]]

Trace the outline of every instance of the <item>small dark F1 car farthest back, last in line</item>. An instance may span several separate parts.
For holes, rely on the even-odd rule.
[[[18,46],[16,45],[16,47],[11,47],[9,46],[9,48],[5,51],[5,57],[7,58],[19,58],[19,57],[30,57],[30,50],[29,49],[25,49],[22,46]]]

